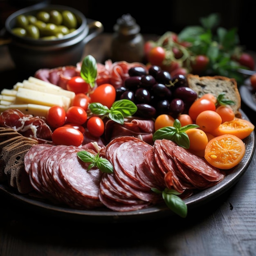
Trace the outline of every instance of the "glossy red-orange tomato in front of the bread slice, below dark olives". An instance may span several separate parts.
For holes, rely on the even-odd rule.
[[[204,110],[216,110],[216,106],[213,103],[213,101],[210,101],[209,99],[197,99],[192,103],[192,105],[189,108],[189,115],[192,118],[193,121],[196,120],[198,115],[203,112]]]

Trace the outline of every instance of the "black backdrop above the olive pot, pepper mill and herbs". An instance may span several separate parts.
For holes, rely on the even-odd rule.
[[[97,1],[97,0],[0,0],[0,26],[13,12],[38,2],[62,4],[79,9],[85,17],[103,23],[105,32],[123,14],[130,13],[141,27],[141,33],[161,36],[166,31],[180,32],[186,25],[199,25],[199,18],[220,13],[221,26],[237,27],[240,44],[256,50],[254,38],[256,19],[254,0],[169,0],[169,1]]]

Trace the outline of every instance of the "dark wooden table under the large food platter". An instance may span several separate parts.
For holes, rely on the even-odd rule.
[[[110,34],[85,47],[102,62]],[[26,77],[23,77],[25,76]],[[27,79],[0,47],[1,88]],[[255,112],[242,110],[256,124]],[[124,223],[88,223],[35,210],[0,191],[1,256],[247,256],[256,255],[256,157],[240,180],[220,197],[177,216]]]

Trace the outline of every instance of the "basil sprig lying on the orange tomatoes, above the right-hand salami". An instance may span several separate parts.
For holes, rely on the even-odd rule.
[[[153,141],[156,139],[169,139],[176,142],[179,146],[183,148],[189,148],[190,141],[189,136],[186,134],[186,130],[191,128],[198,128],[196,124],[188,124],[186,126],[181,126],[180,121],[175,119],[173,126],[166,126],[156,130],[153,134]]]

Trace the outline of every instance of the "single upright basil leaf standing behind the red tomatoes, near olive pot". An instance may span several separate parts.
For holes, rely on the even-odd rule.
[[[87,55],[83,59],[80,75],[86,83],[90,84],[91,88],[95,86],[95,80],[97,77],[97,61],[92,55]]]

